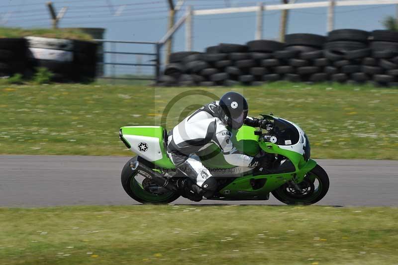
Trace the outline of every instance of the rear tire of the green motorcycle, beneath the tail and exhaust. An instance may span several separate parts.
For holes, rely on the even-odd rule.
[[[121,171],[121,184],[124,191],[134,200],[140,203],[151,204],[168,204],[175,201],[180,194],[173,191],[164,194],[154,194],[143,189],[142,180],[143,176],[139,175],[136,170],[132,170],[130,162],[137,161],[138,156],[134,156],[124,165]]]

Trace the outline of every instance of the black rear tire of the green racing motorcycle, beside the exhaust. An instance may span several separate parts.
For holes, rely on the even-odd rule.
[[[178,193],[171,193],[170,197],[167,197],[163,200],[159,201],[147,201],[141,197],[139,197],[134,191],[132,190],[131,186],[132,181],[135,181],[135,175],[138,173],[136,171],[131,170],[130,167],[130,162],[137,161],[138,156],[135,156],[131,158],[130,160],[127,161],[127,163],[124,165],[122,171],[121,171],[121,185],[123,186],[124,191],[134,200],[140,203],[151,203],[151,204],[168,204],[171,203],[175,200],[177,200],[180,197],[180,194]],[[150,194],[149,192],[147,192]],[[156,196],[155,196],[156,198]]]

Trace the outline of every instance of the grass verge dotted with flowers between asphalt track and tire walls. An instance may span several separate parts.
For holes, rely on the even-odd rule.
[[[283,82],[241,89],[2,85],[0,153],[131,155],[119,128],[160,125],[166,105],[189,90],[216,97],[243,93],[249,115],[273,112],[298,124],[314,158],[398,159],[397,89]],[[167,129],[210,101],[205,95],[180,100],[167,116]]]

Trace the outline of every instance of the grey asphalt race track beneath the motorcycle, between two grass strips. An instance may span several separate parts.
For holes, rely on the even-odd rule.
[[[120,171],[129,157],[0,155],[0,207],[137,204],[123,190]],[[330,178],[320,205],[398,206],[398,161],[317,160]],[[199,204],[281,204],[210,201]],[[184,198],[175,203],[197,204]]]

